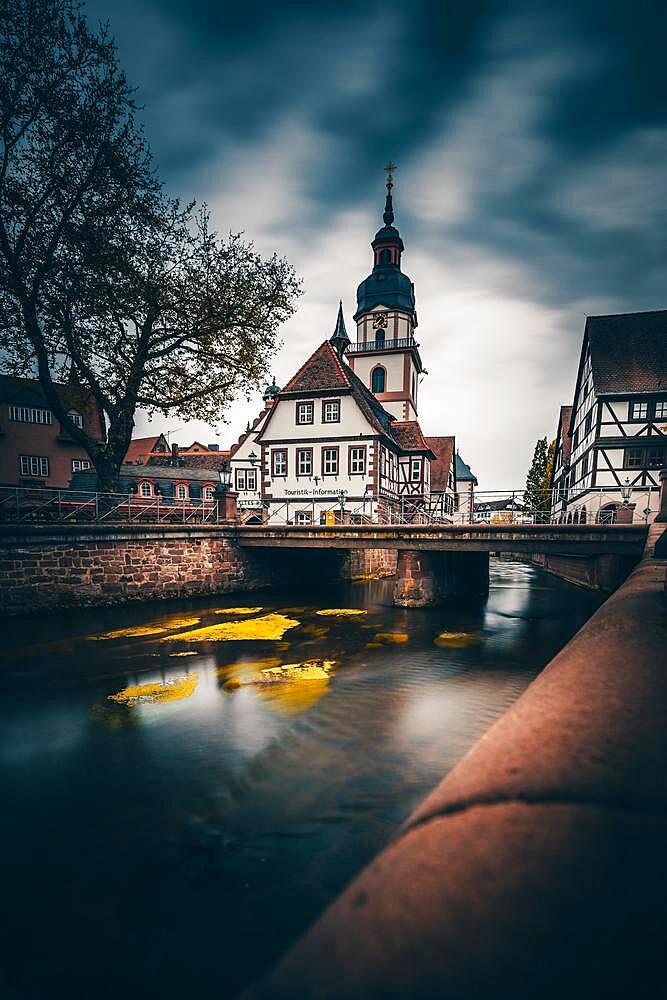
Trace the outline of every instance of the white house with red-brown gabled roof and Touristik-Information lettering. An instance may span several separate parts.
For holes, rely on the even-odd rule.
[[[379,503],[423,503],[429,492],[433,452],[418,423],[394,420],[345,363],[341,317],[277,393],[257,435],[269,519],[290,512],[308,523],[343,506],[370,519]]]

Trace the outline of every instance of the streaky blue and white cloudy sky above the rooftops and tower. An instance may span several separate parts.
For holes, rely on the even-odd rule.
[[[278,384],[371,266],[383,165],[415,283],[427,434],[520,487],[571,402],[585,316],[667,306],[664,2],[93,0],[171,193],[304,280]],[[230,425],[149,424],[227,447]],[[217,436],[216,436],[217,435]]]

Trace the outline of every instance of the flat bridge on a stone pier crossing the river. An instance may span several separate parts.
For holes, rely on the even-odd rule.
[[[242,548],[393,549],[394,601],[422,607],[445,597],[485,593],[489,553],[524,553],[545,569],[614,590],[646,544],[642,524],[243,525]]]

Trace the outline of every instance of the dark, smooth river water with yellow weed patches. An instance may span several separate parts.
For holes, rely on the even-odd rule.
[[[5,998],[233,995],[599,604],[494,560],[488,600],[403,610],[392,587],[6,626]],[[345,610],[364,613],[317,613]],[[222,638],[219,627],[280,632],[285,621],[276,638]],[[255,683],[307,661],[321,679]],[[159,686],[127,691],[146,684]]]

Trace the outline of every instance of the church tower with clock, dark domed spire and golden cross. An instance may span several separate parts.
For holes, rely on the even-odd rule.
[[[357,339],[347,361],[397,420],[417,419],[419,376],[424,371],[415,340],[414,285],[401,271],[403,240],[394,223],[392,171],[388,163],[384,226],[371,243],[373,270],[357,288]]]

